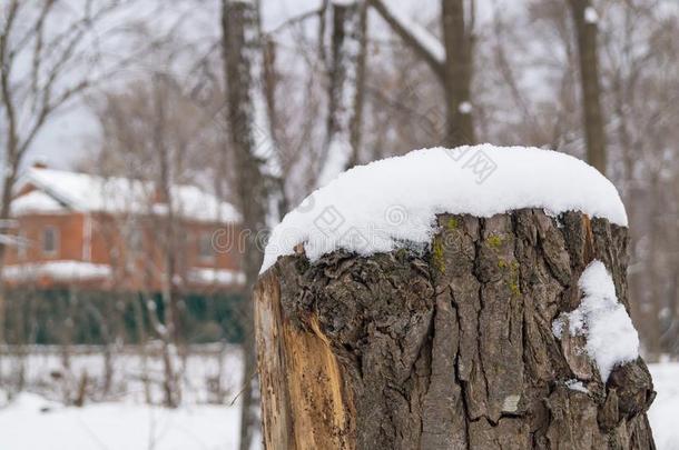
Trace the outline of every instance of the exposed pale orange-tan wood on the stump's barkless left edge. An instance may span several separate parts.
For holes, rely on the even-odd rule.
[[[317,320],[301,330],[283,319],[275,271],[255,291],[258,362],[267,449],[353,449],[353,407]]]

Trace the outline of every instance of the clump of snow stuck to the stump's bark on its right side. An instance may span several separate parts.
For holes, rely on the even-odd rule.
[[[639,357],[639,336],[624,306],[618,301],[613,279],[601,261],[592,261],[582,272],[578,287],[584,297],[580,306],[561,314],[552,323],[552,332],[563,336],[568,319],[571,336],[585,336],[585,350],[597,363],[603,382],[613,368]]]

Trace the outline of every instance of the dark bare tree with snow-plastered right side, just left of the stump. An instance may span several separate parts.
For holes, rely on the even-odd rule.
[[[269,118],[263,93],[263,39],[258,27],[258,4],[223,0],[224,76],[227,86],[227,123],[236,166],[235,191],[246,230],[242,268],[245,272],[244,389],[240,419],[240,449],[250,448],[258,426],[256,356],[253,329],[252,290],[263,260],[263,232],[278,220],[281,162],[276,142],[266,133]],[[262,138],[262,132],[265,132]],[[257,139],[259,137],[259,139]]]

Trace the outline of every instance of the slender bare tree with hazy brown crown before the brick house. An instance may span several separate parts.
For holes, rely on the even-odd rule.
[[[138,256],[130,258],[132,249],[118,249],[117,254],[111,254],[111,261],[116,274],[120,274],[127,283],[138,279],[136,268],[139,263],[147,273],[144,277],[142,306],[150,318],[155,336],[163,343],[164,402],[168,407],[177,407],[180,399],[180,370],[175,367],[174,349],[177,348],[181,356],[186,356],[180,304],[186,276],[186,267],[181,261],[188,240],[185,239],[186,222],[181,213],[185,206],[175,198],[175,187],[194,181],[189,162],[193,156],[210,150],[214,153],[209,139],[214,122],[168,72],[154,72],[119,91],[106,92],[100,102],[98,117],[104,134],[97,164],[100,172],[105,172],[105,176],[125,176],[136,182],[144,181],[145,186],[151,186],[152,189],[147,189],[146,199],[119,199],[130,203],[129,212],[110,218],[111,221],[105,228],[114,227],[114,230],[99,231],[110,236],[111,240],[121,234],[130,237],[135,232],[145,233],[149,229],[160,231],[154,234],[152,244],[136,249],[142,256],[141,259]],[[140,200],[146,201],[146,210],[138,210]],[[155,208],[158,204],[165,207],[165,213],[157,213]],[[165,316],[163,321],[151,299],[157,289],[156,281],[160,283]],[[140,322],[141,306],[135,304],[134,308],[136,320]],[[138,334],[142,339],[144,328],[141,323],[137,324]],[[141,352],[145,358],[144,342]]]

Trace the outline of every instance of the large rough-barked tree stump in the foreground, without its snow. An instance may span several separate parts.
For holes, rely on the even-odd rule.
[[[653,449],[644,362],[604,384],[584,339],[552,332],[594,259],[629,312],[627,228],[531,209],[437,221],[426,252],[301,251],[260,277],[267,448]]]

